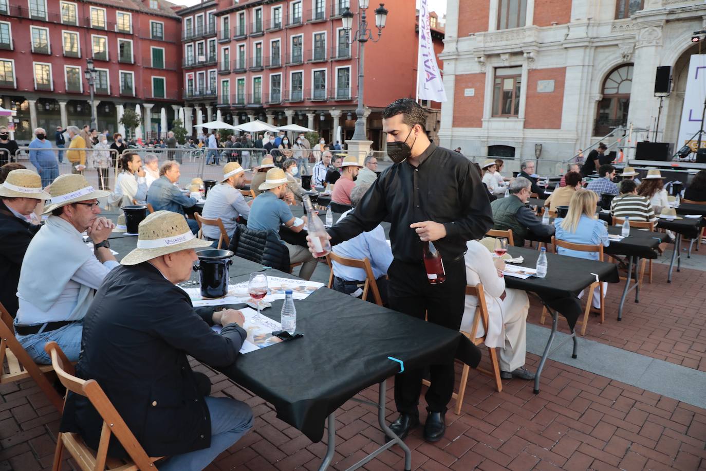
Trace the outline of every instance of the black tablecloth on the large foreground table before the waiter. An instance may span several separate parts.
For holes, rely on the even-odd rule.
[[[279,321],[282,301],[272,304],[262,314]],[[325,287],[294,305],[304,337],[241,355],[221,371],[273,404],[278,418],[314,442],[331,412],[400,371],[388,357],[402,360],[405,369],[453,357],[471,366],[480,361],[480,351],[460,332]]]

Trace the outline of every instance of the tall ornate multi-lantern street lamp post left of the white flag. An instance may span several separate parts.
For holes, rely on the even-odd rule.
[[[373,31],[368,28],[368,18],[366,16],[366,10],[370,4],[370,0],[359,0],[359,21],[358,29],[354,34],[350,35],[351,28],[353,25],[353,13],[350,8],[346,7],[345,11],[341,16],[343,23],[343,28],[346,30],[346,35],[349,37],[349,44],[354,42],[359,42],[360,53],[358,57],[358,107],[355,110],[357,119],[355,121],[355,131],[353,133],[352,141],[366,141],[367,137],[365,135],[365,121],[363,108],[363,70],[365,66],[365,43],[368,41],[378,42],[381,35],[383,34],[383,28],[385,28],[385,21],[387,20],[388,11],[385,9],[385,4],[380,4],[378,8],[375,9],[375,25],[378,28],[377,37],[373,36]]]

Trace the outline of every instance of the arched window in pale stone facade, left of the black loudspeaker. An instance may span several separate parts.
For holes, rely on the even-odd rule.
[[[594,136],[605,136],[618,126],[626,126],[633,88],[633,64],[616,68],[603,84],[603,99],[598,103]]]

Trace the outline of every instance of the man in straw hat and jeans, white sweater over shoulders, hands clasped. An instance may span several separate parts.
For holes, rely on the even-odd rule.
[[[118,266],[107,241],[115,225],[98,217],[98,198],[110,193],[94,190],[81,174],[61,175],[49,193],[44,214],[51,215],[22,262],[15,319],[17,339],[41,364],[52,363],[44,352],[52,340],[69,360],[78,360],[83,316],[105,275]],[[93,250],[83,241],[84,231]]]

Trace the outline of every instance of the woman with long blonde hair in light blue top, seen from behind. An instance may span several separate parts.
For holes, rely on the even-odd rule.
[[[603,246],[609,246],[611,242],[608,238],[606,224],[595,217],[597,203],[598,195],[593,191],[576,190],[569,202],[569,210],[566,217],[558,217],[554,220],[554,227],[556,228],[554,237],[573,244],[603,244]],[[599,258],[598,252],[580,252],[564,249],[563,247],[558,247],[557,251],[560,255],[570,257],[587,258],[588,260],[598,260]],[[604,294],[606,293],[607,285],[606,282],[603,283]],[[579,297],[582,294],[583,292],[579,294]],[[593,306],[597,309],[601,306],[601,295],[598,287],[593,292]]]

